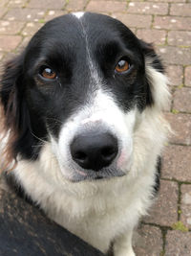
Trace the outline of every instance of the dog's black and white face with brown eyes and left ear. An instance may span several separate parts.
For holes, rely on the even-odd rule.
[[[71,181],[126,175],[136,120],[153,104],[146,54],[161,69],[151,46],[109,16],[48,22],[3,76],[11,154],[35,160],[50,142]]]

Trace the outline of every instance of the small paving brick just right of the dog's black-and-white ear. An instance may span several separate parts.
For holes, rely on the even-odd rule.
[[[183,68],[177,65],[168,65],[166,67],[167,76],[170,85],[181,85],[183,80]]]

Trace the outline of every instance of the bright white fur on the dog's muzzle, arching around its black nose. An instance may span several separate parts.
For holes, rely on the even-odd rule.
[[[90,99],[87,105],[84,105],[63,125],[58,143],[52,137],[53,153],[58,159],[62,174],[72,180],[75,179],[75,175],[79,174],[77,166],[71,164],[73,160],[70,154],[70,144],[75,134],[86,131],[96,124],[117,136],[121,148],[117,157],[117,168],[126,174],[132,162],[133,130],[136,115],[136,109],[124,114],[115,104],[114,97],[112,99],[109,93],[103,92],[101,89],[96,91],[95,97]]]

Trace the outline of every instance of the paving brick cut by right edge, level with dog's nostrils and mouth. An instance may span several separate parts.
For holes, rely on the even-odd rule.
[[[191,147],[169,145],[163,152],[162,178],[191,181]]]

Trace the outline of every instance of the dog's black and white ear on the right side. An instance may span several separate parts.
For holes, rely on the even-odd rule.
[[[168,79],[165,76],[164,65],[156,53],[153,44],[139,40],[145,59],[147,82],[147,105],[164,110],[170,103]]]

